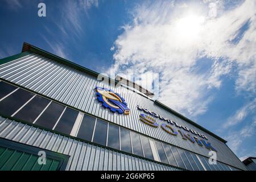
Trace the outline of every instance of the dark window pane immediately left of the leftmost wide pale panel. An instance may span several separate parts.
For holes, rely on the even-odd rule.
[[[78,113],[78,111],[67,107],[54,130],[70,134]]]

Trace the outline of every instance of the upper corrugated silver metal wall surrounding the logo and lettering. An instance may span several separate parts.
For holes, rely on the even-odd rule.
[[[209,150],[207,148],[193,144],[181,137],[167,134],[160,127],[154,128],[140,122],[139,114],[142,111],[137,109],[137,105],[142,106],[165,118],[170,118],[183,126],[187,126],[189,129],[204,134],[209,142],[212,143],[212,146],[217,149],[217,160],[234,167],[246,169],[225,143],[197,129],[197,127],[170,113],[170,111],[154,104],[154,101],[141,96],[141,94],[134,93],[132,90],[122,86],[110,88],[126,99],[131,110],[129,115],[114,114],[108,109],[102,109],[101,104],[97,101],[94,88],[96,86],[109,88],[109,85],[104,85],[102,82],[97,81],[96,77],[88,73],[57,63],[47,57],[31,53],[31,55],[3,64],[0,66],[0,77],[63,102],[64,104],[76,107],[86,113],[96,115],[97,117],[138,131],[149,137],[179,146],[196,154],[209,157]],[[159,124],[164,122],[158,118],[156,118],[156,121]],[[98,147],[94,146],[94,150],[96,148]],[[99,152],[101,150],[101,148],[98,149]]]

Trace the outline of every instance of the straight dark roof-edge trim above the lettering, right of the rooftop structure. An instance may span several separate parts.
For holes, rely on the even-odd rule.
[[[191,123],[192,125],[198,127],[199,129],[205,131],[205,132],[208,133],[209,135],[212,135],[212,137],[217,138],[218,140],[221,140],[221,142],[227,143],[227,141],[226,141],[225,139],[223,139],[223,138],[221,138],[221,137],[218,137],[218,135],[212,133],[211,131],[205,129],[203,126],[200,126],[199,124],[197,124],[196,122],[192,121],[191,119],[185,117],[184,115],[182,115],[182,114],[178,113],[177,111],[171,109],[170,107],[164,105],[162,102],[160,102],[160,101],[158,101],[158,100],[155,100],[155,104],[158,104],[158,105],[162,106],[164,109],[167,109],[167,110],[171,111],[171,113],[177,115],[178,117],[184,119],[185,121]]]

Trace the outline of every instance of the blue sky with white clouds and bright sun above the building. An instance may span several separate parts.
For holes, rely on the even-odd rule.
[[[0,3],[0,58],[28,42],[100,73],[156,74],[158,100],[256,156],[256,1]]]

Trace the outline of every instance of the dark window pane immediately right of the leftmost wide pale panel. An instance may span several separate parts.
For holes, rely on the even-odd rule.
[[[96,118],[84,114],[84,118],[82,118],[82,123],[79,129],[79,133],[77,134],[77,137],[88,141],[92,141],[95,120]]]

